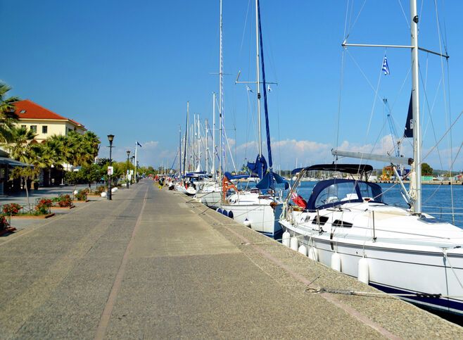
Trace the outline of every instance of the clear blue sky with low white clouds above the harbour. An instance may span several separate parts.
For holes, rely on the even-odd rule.
[[[409,45],[409,1],[260,1],[265,73],[277,83],[268,94],[274,168],[331,163],[336,146],[393,152],[386,115],[397,140],[410,100],[410,50],[341,43]],[[450,55],[420,53],[424,162],[462,170],[463,123],[446,132],[463,110],[463,4],[437,4],[436,15],[433,1],[418,1],[420,46]],[[202,125],[212,124],[219,0],[0,0],[0,14],[0,80],[13,87],[11,95],[96,132],[100,157],[114,134],[116,160],[139,141],[141,165],[172,165],[187,101],[191,121],[197,113]],[[385,54],[390,75],[381,73]],[[223,64],[224,125],[241,168],[258,151],[255,84],[252,93],[235,84],[240,70],[240,80],[255,82],[254,1],[223,1]],[[410,140],[402,153],[412,157]]]

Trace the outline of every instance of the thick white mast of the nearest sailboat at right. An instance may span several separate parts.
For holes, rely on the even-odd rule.
[[[421,214],[421,124],[419,121],[419,64],[418,64],[418,14],[417,1],[410,0],[410,30],[412,35],[412,108],[413,108],[413,158],[412,174],[415,191],[412,210]]]

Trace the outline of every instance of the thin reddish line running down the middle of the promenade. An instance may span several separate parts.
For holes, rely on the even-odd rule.
[[[103,313],[101,313],[99,325],[98,325],[98,328],[96,329],[96,334],[94,338],[96,340],[104,339],[106,331],[108,329],[110,317],[111,317],[111,314],[113,313],[113,308],[118,298],[120,287],[122,286],[122,279],[124,278],[124,275],[125,275],[125,267],[127,267],[127,262],[129,260],[129,253],[132,248],[132,245],[134,244],[135,235],[137,234],[137,231],[139,229],[139,225],[141,223],[141,216],[143,215],[143,211],[146,206],[146,196],[148,196],[148,188],[149,187],[146,187],[143,206],[141,206],[139,218],[137,219],[137,222],[135,223],[134,229],[132,231],[132,237],[130,237],[130,241],[127,244],[127,248],[125,248],[125,253],[124,253],[124,256],[122,257],[122,261],[120,263],[118,274],[116,275],[114,279],[113,287],[111,287],[111,291],[108,296],[108,300],[106,301],[106,306],[103,310]]]

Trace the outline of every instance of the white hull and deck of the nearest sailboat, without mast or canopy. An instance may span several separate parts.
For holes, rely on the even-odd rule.
[[[323,213],[326,211],[321,210],[320,214]],[[341,272],[358,277],[359,260],[365,257],[369,269],[369,284],[374,287],[393,294],[448,296],[403,298],[413,303],[463,315],[463,251],[459,248],[463,245],[462,230],[452,229],[447,223],[441,223],[440,234],[447,237],[439,237],[431,232],[431,227],[429,230],[423,230],[426,224],[418,222],[421,224],[418,226],[421,227],[421,232],[419,229],[412,232],[418,218],[405,213],[400,215],[397,212],[395,218],[378,216],[374,241],[371,224],[369,227],[331,226],[334,220],[346,220],[347,215],[347,211],[333,211],[330,219],[320,226],[322,232],[319,232],[317,223],[294,222],[306,219],[313,221],[316,213],[293,211],[293,222],[281,220],[281,225],[292,236],[298,236],[300,243],[307,247],[315,246],[318,260],[324,265],[331,266],[331,256],[336,251],[341,257]],[[360,215],[357,214],[355,219],[360,222]],[[408,225],[404,224],[407,220]]]

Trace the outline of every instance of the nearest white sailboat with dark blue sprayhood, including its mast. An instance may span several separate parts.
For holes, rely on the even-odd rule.
[[[332,153],[336,157],[387,161],[393,164],[397,178],[400,176],[395,165],[411,165],[410,191],[403,190],[402,184],[411,208],[383,203],[381,187],[368,182],[371,165],[312,165],[293,170],[298,177],[286,197],[280,223],[288,232],[284,239],[293,237],[295,248],[305,246],[313,260],[406,301],[463,315],[463,230],[421,210],[416,0],[410,1],[410,12],[412,43],[402,47],[412,51],[413,158],[338,150]],[[359,45],[344,42],[343,46]],[[305,201],[296,193],[296,187],[313,170],[341,172],[347,178],[318,182]]]

